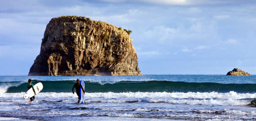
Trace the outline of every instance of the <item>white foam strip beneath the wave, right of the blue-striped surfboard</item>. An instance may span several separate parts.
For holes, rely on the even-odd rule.
[[[236,93],[230,91],[228,93],[218,92],[128,92],[128,93],[89,93],[87,97],[102,97],[102,98],[219,98],[219,99],[244,99],[255,98],[256,93]]]

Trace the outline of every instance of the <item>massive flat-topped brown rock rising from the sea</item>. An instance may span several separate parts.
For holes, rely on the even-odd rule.
[[[141,75],[132,38],[86,17],[52,18],[28,75]]]

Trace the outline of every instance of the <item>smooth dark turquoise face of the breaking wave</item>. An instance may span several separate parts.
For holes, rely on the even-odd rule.
[[[72,92],[75,80],[40,81],[33,80],[33,84],[43,83],[41,92]],[[12,86],[7,93],[26,92],[27,84]],[[212,82],[172,82],[172,81],[120,81],[104,84],[99,82],[85,82],[85,92],[229,92],[254,93],[256,84],[221,84]],[[75,89],[74,89],[75,90]]]

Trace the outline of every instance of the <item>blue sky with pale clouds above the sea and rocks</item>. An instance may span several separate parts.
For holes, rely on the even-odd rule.
[[[0,75],[27,75],[64,15],[132,30],[142,74],[256,74],[253,0],[1,0]]]

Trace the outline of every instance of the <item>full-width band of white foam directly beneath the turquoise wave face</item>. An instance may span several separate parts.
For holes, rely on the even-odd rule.
[[[0,97],[23,97],[25,92],[20,93],[0,93]],[[45,92],[38,93],[37,97],[77,97],[76,93],[55,93],[55,92]],[[256,93],[236,93],[230,91],[228,93],[218,93],[218,92],[123,92],[123,93],[85,93],[86,98],[196,98],[196,99],[245,99],[245,98],[255,98]]]

